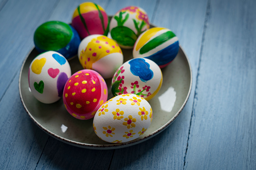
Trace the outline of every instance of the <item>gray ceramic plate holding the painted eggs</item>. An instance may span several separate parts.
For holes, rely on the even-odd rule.
[[[132,59],[132,50],[122,50],[124,62]],[[126,143],[107,143],[101,140],[93,130],[93,119],[78,120],[65,109],[62,99],[53,104],[37,101],[29,90],[28,70],[32,60],[39,53],[33,49],[25,59],[19,79],[21,101],[30,118],[49,135],[79,147],[91,149],[114,149],[127,147],[145,141],[164,130],[172,123],[184,108],[192,85],[192,71],[189,60],[180,47],[178,56],[162,69],[163,83],[160,91],[150,101],[153,119],[150,127],[139,138]],[[72,74],[82,67],[75,57],[69,61]],[[111,79],[106,80],[109,99]]]

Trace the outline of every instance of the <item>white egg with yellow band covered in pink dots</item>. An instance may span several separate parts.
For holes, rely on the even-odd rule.
[[[113,77],[123,64],[123,53],[117,43],[103,35],[84,38],[78,48],[78,58],[84,69],[93,69],[104,78]]]

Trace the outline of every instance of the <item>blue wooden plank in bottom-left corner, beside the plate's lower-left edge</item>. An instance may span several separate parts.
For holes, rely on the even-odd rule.
[[[19,74],[0,103],[0,167],[34,169],[49,136],[27,115],[18,84]]]

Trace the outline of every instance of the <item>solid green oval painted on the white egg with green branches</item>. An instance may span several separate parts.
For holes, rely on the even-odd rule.
[[[131,29],[124,26],[113,28],[111,30],[111,37],[123,46],[133,46],[138,38]]]

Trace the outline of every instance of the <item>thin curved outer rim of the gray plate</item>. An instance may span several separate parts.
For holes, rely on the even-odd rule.
[[[140,139],[135,139],[135,140],[131,140],[131,141],[128,141],[128,142],[124,142],[124,143],[111,143],[111,144],[88,144],[88,143],[81,143],[81,142],[77,142],[77,141],[73,141],[73,140],[70,140],[70,139],[66,139],[64,137],[61,137],[51,131],[49,131],[48,129],[46,129],[45,127],[43,127],[32,115],[31,113],[28,111],[24,101],[23,101],[23,98],[22,98],[22,93],[21,93],[21,75],[22,75],[22,71],[23,71],[23,68],[24,68],[24,65],[29,57],[29,55],[31,54],[31,52],[35,49],[32,48],[28,55],[26,56],[26,58],[24,59],[23,61],[23,64],[22,64],[22,67],[21,67],[21,70],[20,70],[20,75],[19,75],[19,93],[20,93],[20,99],[21,99],[21,102],[22,102],[22,105],[24,107],[24,109],[26,110],[27,114],[30,116],[30,118],[33,120],[33,122],[39,127],[41,128],[44,132],[46,132],[47,134],[49,134],[50,136],[64,142],[64,143],[67,143],[67,144],[71,144],[71,145],[74,145],[74,146],[77,146],[77,147],[82,147],[82,148],[88,148],[88,149],[117,149],[117,148],[123,148],[123,147],[128,147],[128,146],[132,146],[132,145],[135,145],[135,144],[139,144],[143,141],[146,141],[148,139],[150,139],[151,137],[153,136],[156,136],[157,134],[159,134],[160,132],[162,132],[163,130],[165,130],[170,124],[172,124],[174,122],[174,120],[176,120],[176,118],[180,115],[181,111],[183,110],[183,108],[185,107],[186,103],[188,102],[188,99],[189,99],[189,96],[191,94],[191,89],[192,89],[192,82],[193,82],[193,77],[192,77],[192,67],[191,67],[191,63],[190,63],[190,60],[187,56],[187,54],[185,53],[185,51],[183,50],[183,48],[181,47],[181,45],[179,45],[181,51],[184,53],[186,59],[187,59],[187,62],[188,62],[188,65],[189,65],[189,69],[190,69],[190,87],[189,87],[189,91],[188,91],[188,94],[187,94],[187,97],[184,101],[184,103],[182,104],[181,108],[179,109],[179,111],[175,114],[175,116],[170,119],[167,123],[165,123],[164,125],[162,125],[160,128],[158,128],[157,130],[153,131],[152,133],[150,133],[149,135],[147,136],[144,136],[143,138],[140,138]]]

